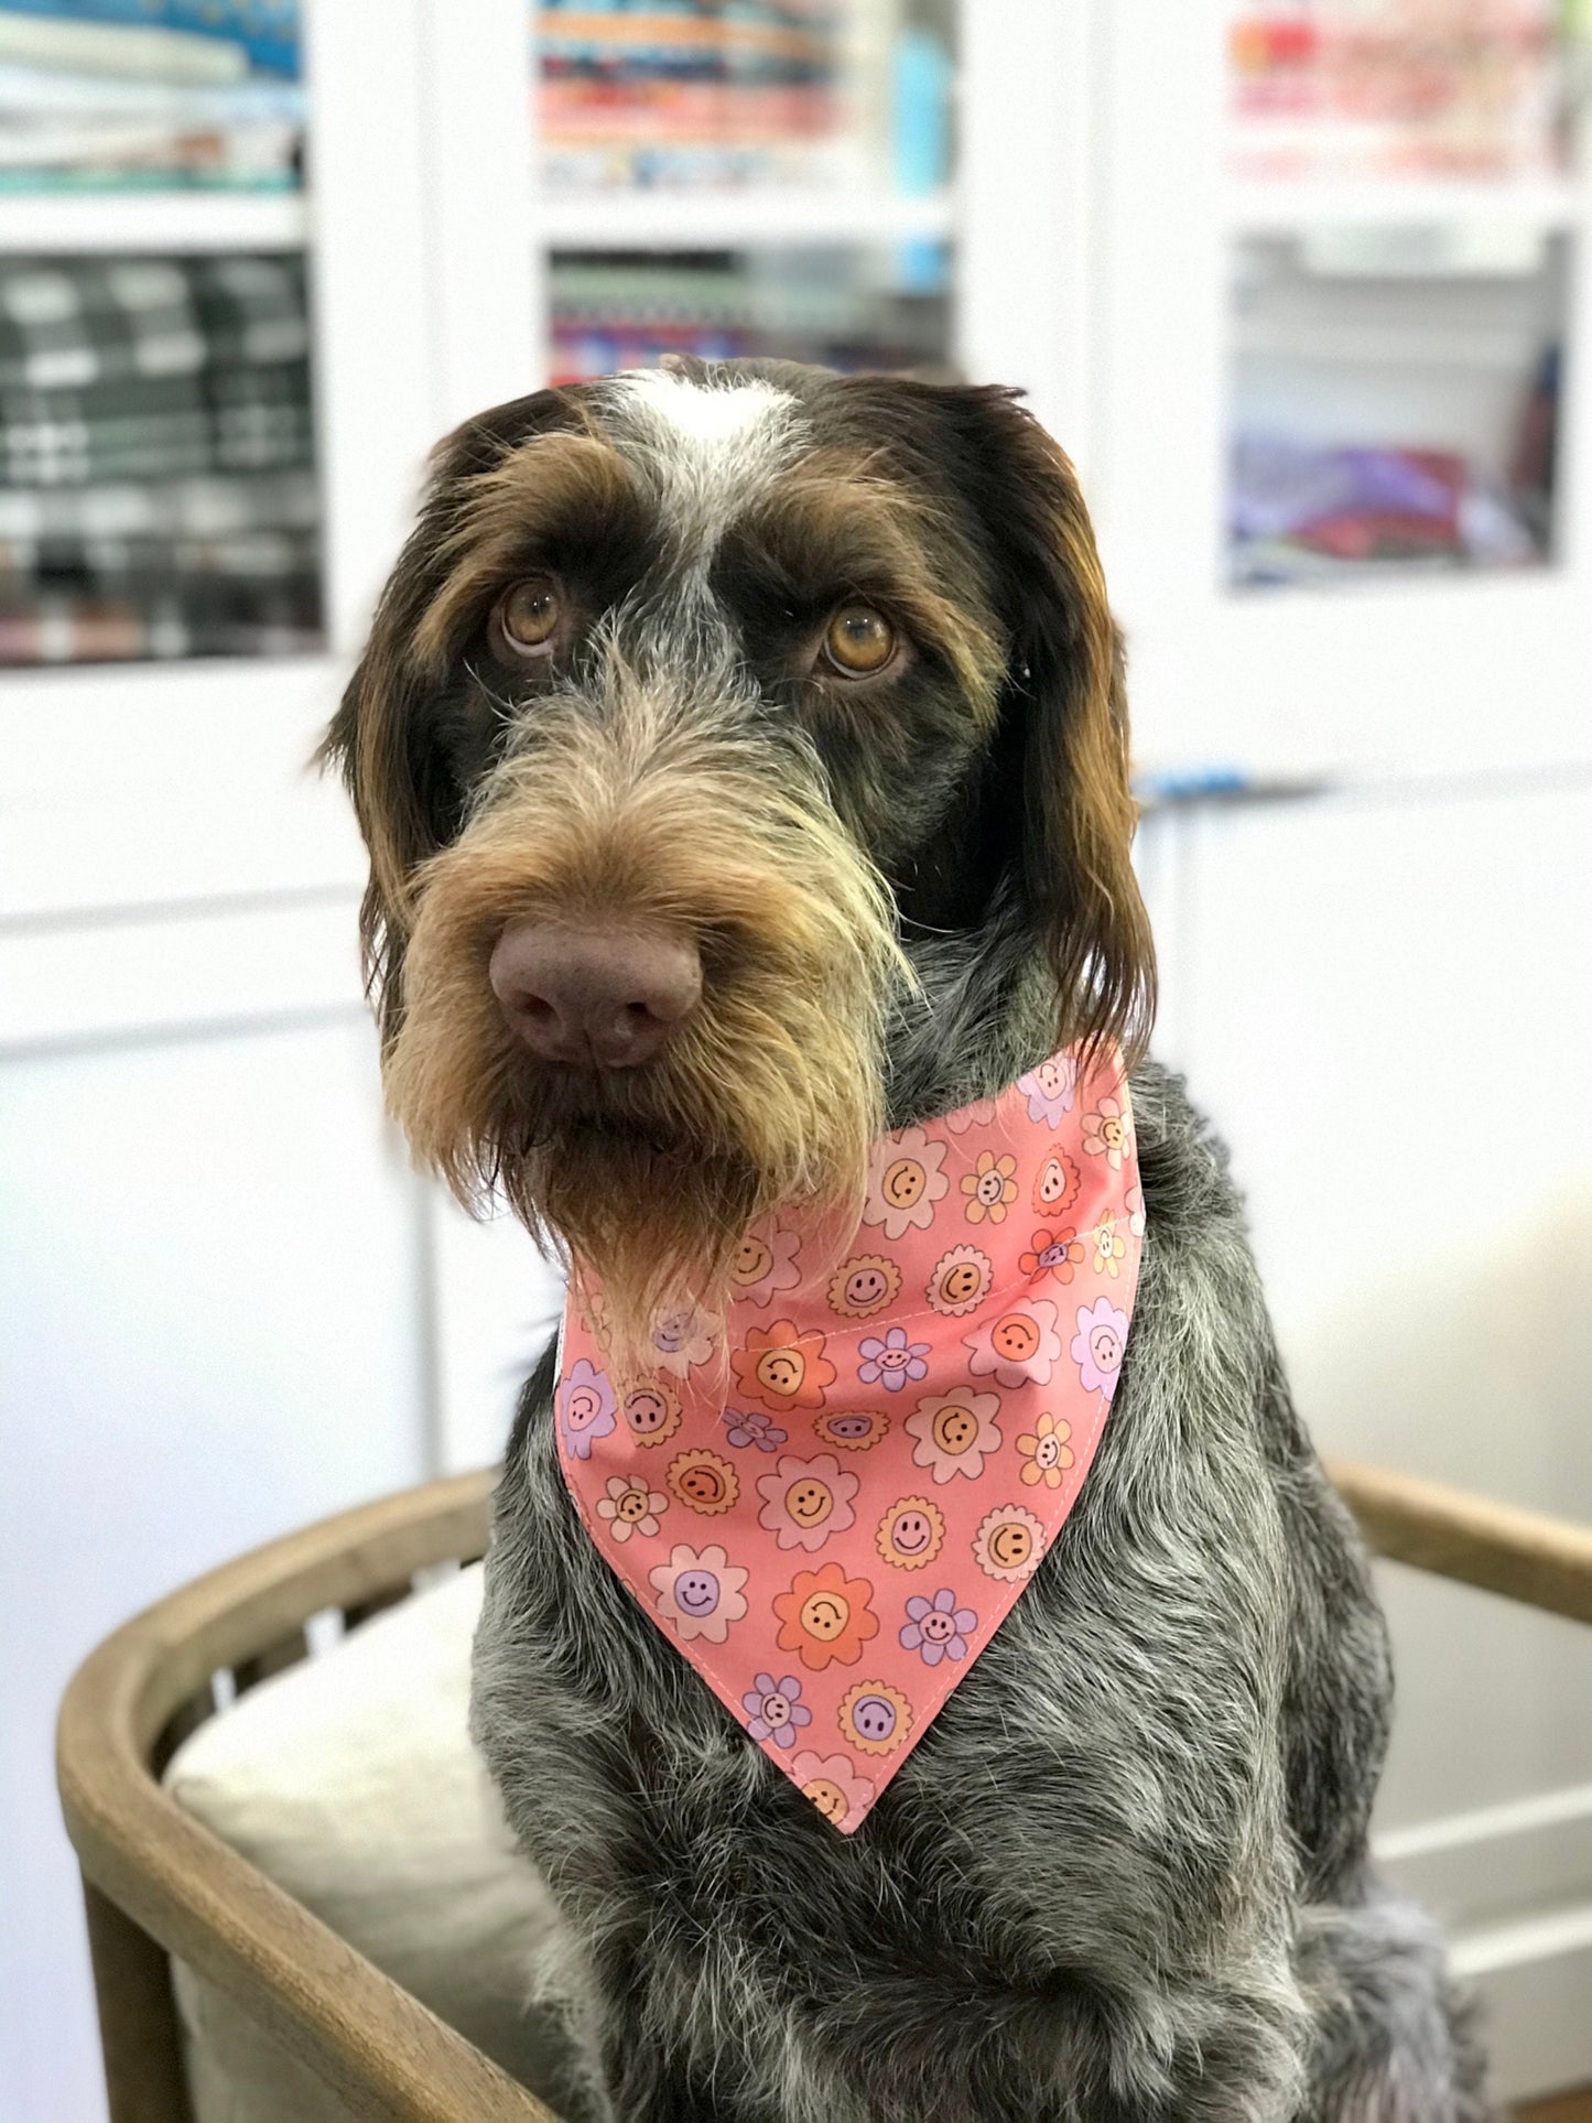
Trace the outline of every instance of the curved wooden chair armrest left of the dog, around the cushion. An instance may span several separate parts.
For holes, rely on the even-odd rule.
[[[359,2117],[556,2123],[471,2042],[210,1834],[161,1788],[155,1747],[223,1667],[325,1607],[361,1607],[486,1546],[492,1475],[344,1512],[272,1541],[108,1637],[62,1703],[57,1775],[85,1879],[223,1989]]]

